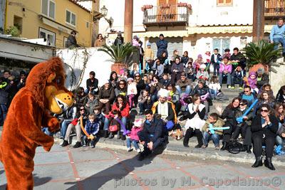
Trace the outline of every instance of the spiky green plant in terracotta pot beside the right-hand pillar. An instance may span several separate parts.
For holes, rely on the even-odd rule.
[[[279,50],[274,50],[274,43],[268,43],[264,40],[247,44],[243,52],[247,58],[249,72],[264,68],[264,71],[268,73],[271,69],[271,60],[279,56]]]

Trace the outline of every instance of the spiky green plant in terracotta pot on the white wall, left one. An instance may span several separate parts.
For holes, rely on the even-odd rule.
[[[136,50],[137,49],[132,46],[131,43],[124,43],[123,45],[117,44],[117,46],[114,44],[112,46],[103,45],[103,48],[98,49],[98,51],[108,53],[111,61],[113,61],[111,70],[116,73],[120,73],[122,68],[128,68],[126,60]]]

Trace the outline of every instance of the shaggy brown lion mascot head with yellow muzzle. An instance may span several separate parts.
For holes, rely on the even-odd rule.
[[[26,87],[42,109],[61,114],[71,107],[73,95],[65,87],[65,72],[60,58],[51,58],[33,67],[26,80]]]

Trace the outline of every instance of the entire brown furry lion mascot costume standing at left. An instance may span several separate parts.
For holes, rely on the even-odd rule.
[[[33,189],[33,157],[36,147],[49,151],[59,122],[51,112],[60,114],[72,105],[72,93],[65,87],[65,73],[60,58],[51,58],[33,67],[26,86],[15,95],[4,122],[0,139],[0,161],[4,164],[7,189]]]

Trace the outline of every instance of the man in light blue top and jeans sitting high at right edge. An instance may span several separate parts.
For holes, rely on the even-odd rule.
[[[285,38],[284,38],[285,26],[282,18],[278,19],[277,25],[273,26],[270,32],[270,43],[274,43],[274,49],[277,49],[279,43],[283,47],[282,56],[285,56]]]

